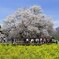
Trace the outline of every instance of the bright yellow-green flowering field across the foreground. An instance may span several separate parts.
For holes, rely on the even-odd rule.
[[[59,44],[41,46],[0,44],[0,59],[59,59]]]

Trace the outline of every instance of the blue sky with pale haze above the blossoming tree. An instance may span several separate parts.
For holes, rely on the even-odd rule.
[[[59,26],[59,0],[0,0],[0,24],[18,8],[41,6],[43,13],[53,19],[54,27]]]

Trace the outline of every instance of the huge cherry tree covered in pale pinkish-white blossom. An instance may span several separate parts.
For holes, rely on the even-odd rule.
[[[9,38],[51,36],[54,34],[52,19],[42,12],[40,6],[16,10],[4,20],[3,30]]]

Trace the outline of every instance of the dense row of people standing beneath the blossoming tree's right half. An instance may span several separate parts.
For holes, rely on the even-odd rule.
[[[26,38],[24,39],[24,43],[43,44],[43,43],[52,43],[53,40],[54,40],[54,37]]]

